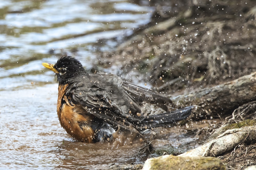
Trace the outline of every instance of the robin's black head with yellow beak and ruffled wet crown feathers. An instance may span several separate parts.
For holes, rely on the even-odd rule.
[[[43,66],[55,72],[59,83],[67,83],[76,75],[84,74],[82,64],[71,56],[61,57],[56,64],[42,63]]]

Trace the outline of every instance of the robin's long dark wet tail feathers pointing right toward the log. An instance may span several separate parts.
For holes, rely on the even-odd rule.
[[[193,106],[188,106],[172,112],[147,116],[140,122],[139,129],[145,130],[165,125],[175,125],[177,121],[186,119],[191,114],[192,108]]]

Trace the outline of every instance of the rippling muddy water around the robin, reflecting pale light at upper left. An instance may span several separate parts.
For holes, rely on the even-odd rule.
[[[0,168],[105,169],[142,163],[139,144],[74,142],[59,124],[57,83],[42,62],[76,56],[90,69],[94,44],[146,24],[153,7],[118,0],[0,2]]]

